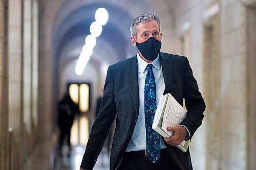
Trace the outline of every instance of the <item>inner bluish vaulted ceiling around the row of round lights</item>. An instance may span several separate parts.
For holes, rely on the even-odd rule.
[[[67,8],[67,4],[63,4],[63,7]],[[95,21],[94,14],[97,8],[104,7],[109,11],[109,21],[102,28],[102,34],[97,37],[97,45],[94,48],[94,55],[102,55],[102,57],[110,58],[108,51],[104,51],[104,46],[111,46],[111,50],[115,51],[116,56],[111,56],[112,59],[109,63],[114,63],[127,57],[127,50],[131,50],[130,42],[130,24],[133,19],[125,10],[120,7],[107,4],[107,3],[90,3],[74,9],[69,14],[65,14],[60,8],[60,11],[56,14],[53,25],[53,54],[56,56],[57,61],[60,58],[65,58],[66,55],[61,53],[65,51],[69,45],[77,46],[82,49],[84,44],[84,38],[90,34],[90,25]],[[59,21],[61,19],[61,22]],[[70,42],[77,39],[76,44],[70,44]],[[78,40],[79,39],[79,40]],[[105,42],[105,44],[101,43]],[[101,44],[100,48],[97,46]],[[134,48],[134,54],[136,49]],[[61,55],[60,55],[61,54]],[[69,53],[70,54],[70,53]],[[74,58],[76,59],[79,54],[74,51]]]

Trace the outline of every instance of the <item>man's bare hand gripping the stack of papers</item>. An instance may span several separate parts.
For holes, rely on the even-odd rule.
[[[174,132],[173,136],[164,138],[168,145],[177,146],[181,144],[187,135],[187,130],[183,126],[168,127],[167,130]]]

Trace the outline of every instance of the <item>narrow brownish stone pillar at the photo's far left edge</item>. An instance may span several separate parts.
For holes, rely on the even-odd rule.
[[[9,169],[8,1],[0,1],[0,168]]]

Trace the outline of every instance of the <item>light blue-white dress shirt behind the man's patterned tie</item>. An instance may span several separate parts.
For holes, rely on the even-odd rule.
[[[138,77],[139,77],[139,116],[137,123],[135,125],[135,129],[133,131],[132,138],[127,146],[126,151],[141,151],[146,150],[146,127],[145,127],[145,113],[144,113],[144,86],[146,79],[146,66],[147,62],[142,60],[137,54],[138,60]],[[163,71],[159,56],[151,63],[153,64],[153,73],[156,81],[156,104],[158,104],[160,96],[163,94],[165,89],[164,79],[163,79]],[[160,137],[161,148],[166,148],[162,138]]]

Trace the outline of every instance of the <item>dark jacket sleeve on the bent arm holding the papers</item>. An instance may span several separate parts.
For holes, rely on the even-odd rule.
[[[181,125],[187,127],[190,132],[188,139],[191,139],[196,130],[202,124],[205,103],[187,58],[185,60],[184,99],[187,109],[187,116]]]

